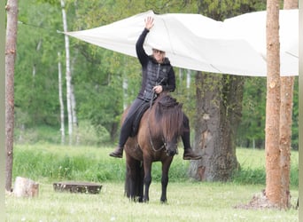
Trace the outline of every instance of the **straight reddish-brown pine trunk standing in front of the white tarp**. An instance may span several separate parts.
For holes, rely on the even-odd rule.
[[[279,42],[279,1],[267,2],[267,103],[266,103],[266,190],[271,204],[281,202],[281,152],[279,147],[280,129],[280,42]]]

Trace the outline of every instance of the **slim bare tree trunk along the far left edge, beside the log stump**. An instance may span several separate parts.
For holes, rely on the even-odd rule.
[[[13,126],[14,126],[14,66],[16,57],[18,1],[8,0],[6,4],[6,47],[5,47],[5,147],[6,147],[6,178],[5,189],[12,189],[13,162]]]

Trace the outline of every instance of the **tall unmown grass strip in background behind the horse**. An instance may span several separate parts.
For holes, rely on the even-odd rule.
[[[111,158],[113,147],[62,147],[49,144],[16,146],[14,148],[13,178],[32,178],[43,182],[54,180],[87,180],[92,182],[123,181],[125,159]],[[183,150],[176,155],[169,171],[171,182],[188,180],[189,161],[183,161]],[[258,149],[237,148],[238,170],[232,182],[265,185],[265,152]],[[291,152],[291,186],[298,188],[299,155]],[[152,179],[160,181],[161,164],[153,163]]]

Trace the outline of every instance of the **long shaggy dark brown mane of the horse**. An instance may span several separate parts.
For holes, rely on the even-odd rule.
[[[161,127],[153,129],[153,133],[172,139],[183,133],[183,104],[167,93],[161,93],[155,104],[155,122]]]

